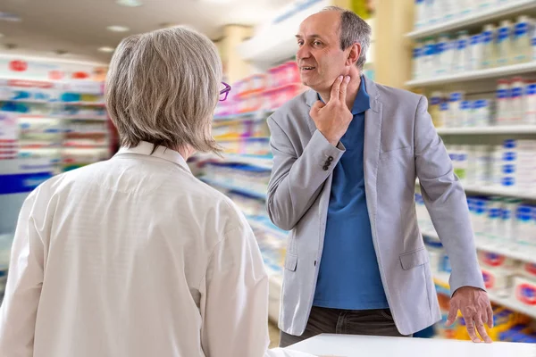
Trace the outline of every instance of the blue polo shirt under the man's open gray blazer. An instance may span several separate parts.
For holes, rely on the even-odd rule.
[[[354,119],[340,139],[346,152],[333,169],[314,306],[344,310],[389,307],[364,193],[364,112],[368,109],[370,100],[362,77],[352,108]]]

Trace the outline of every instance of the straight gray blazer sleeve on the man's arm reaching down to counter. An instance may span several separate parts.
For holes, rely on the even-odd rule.
[[[423,201],[452,266],[450,292],[461,286],[485,289],[474,245],[464,188],[433,127],[424,96],[415,112],[415,166]]]

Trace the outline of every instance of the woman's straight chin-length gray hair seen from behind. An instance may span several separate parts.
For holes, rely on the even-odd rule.
[[[127,37],[113,54],[106,106],[121,145],[220,152],[211,134],[222,62],[210,39],[185,27]]]

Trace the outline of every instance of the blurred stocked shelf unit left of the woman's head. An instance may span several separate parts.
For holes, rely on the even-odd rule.
[[[113,129],[102,81],[10,78],[0,79],[0,88],[4,115],[14,120],[10,132],[15,156],[47,157],[54,162],[54,173],[110,157]],[[22,95],[28,97],[18,97]]]

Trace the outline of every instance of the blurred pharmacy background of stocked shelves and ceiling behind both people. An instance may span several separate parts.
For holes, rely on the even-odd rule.
[[[0,182],[18,175],[17,182],[26,183],[17,184],[17,193],[0,185],[0,291],[17,207],[29,190],[54,174],[106,160],[118,148],[103,97],[113,46],[133,33],[188,23],[214,39],[223,80],[232,87],[214,112],[222,155],[196,154],[188,164],[245,213],[270,276],[269,313],[277,322],[288,232],[270,222],[265,208],[273,163],[266,119],[306,90],[294,62],[299,23],[339,5],[373,28],[364,74],[428,98],[467,194],[482,276],[495,304],[491,335],[536,342],[536,1],[208,1],[72,3],[65,15],[70,21],[49,25],[38,14],[67,13],[64,2],[0,6],[0,13],[23,20],[0,20]],[[185,5],[190,12],[181,11]],[[122,32],[106,29],[113,23]],[[43,29],[50,33],[39,33]],[[57,48],[65,50],[52,55]],[[434,331],[466,339],[463,320],[451,328],[443,323],[451,268],[423,195],[417,180],[419,225],[444,314]]]

